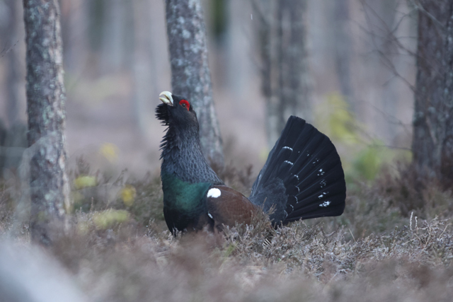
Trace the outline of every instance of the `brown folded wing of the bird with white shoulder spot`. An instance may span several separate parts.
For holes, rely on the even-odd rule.
[[[260,211],[243,194],[225,185],[213,185],[207,191],[207,209],[216,226],[250,224],[253,213]]]

